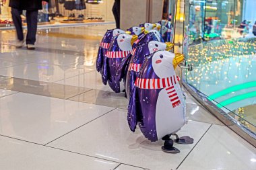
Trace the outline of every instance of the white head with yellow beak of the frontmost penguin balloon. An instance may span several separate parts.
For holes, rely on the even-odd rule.
[[[160,78],[175,75],[174,69],[183,61],[183,54],[173,54],[168,51],[158,51],[152,56],[152,66],[156,75]]]

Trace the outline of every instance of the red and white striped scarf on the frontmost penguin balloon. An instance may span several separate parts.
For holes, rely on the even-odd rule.
[[[162,78],[162,79],[140,79],[137,78],[135,81],[135,86],[139,89],[165,89],[170,102],[172,103],[172,108],[177,107],[181,104],[181,100],[174,88],[174,84],[177,84],[180,78],[174,76]]]

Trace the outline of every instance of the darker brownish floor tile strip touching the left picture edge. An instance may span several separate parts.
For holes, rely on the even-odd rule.
[[[68,99],[70,97],[74,97],[75,95],[79,95],[91,90],[84,87],[46,83],[42,81],[18,78],[10,78],[0,81],[0,88],[35,95],[55,97],[59,99]]]

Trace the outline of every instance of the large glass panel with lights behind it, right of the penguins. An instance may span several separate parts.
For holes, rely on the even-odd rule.
[[[256,132],[256,1],[191,0],[189,83]],[[254,27],[253,27],[254,26]]]

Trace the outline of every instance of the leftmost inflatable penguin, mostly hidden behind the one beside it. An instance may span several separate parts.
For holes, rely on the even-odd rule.
[[[102,41],[100,42],[100,47],[98,48],[98,56],[96,59],[96,70],[98,72],[100,72],[100,70],[102,69],[105,53],[106,50],[108,50],[112,38],[122,33],[125,33],[125,31],[120,29],[108,30],[105,33],[104,37],[102,38]]]

